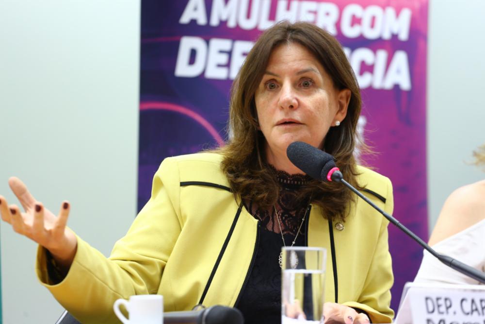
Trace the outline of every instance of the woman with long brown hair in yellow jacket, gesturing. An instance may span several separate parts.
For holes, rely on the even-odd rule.
[[[390,181],[356,166],[360,93],[340,44],[308,23],[279,23],[248,54],[231,93],[231,139],[167,158],[152,196],[106,259],[45,209],[18,179],[25,213],[2,219],[40,244],[37,274],[81,322],[112,322],[114,300],[159,293],[165,311],[238,307],[246,323],[279,323],[282,246],[328,250],[327,323],[390,322],[388,222],[339,184],[311,180],[286,149],[333,154],[347,181],[392,212]],[[331,256],[331,257],[330,257]]]

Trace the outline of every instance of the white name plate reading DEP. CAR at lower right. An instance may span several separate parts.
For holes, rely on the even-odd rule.
[[[396,324],[485,324],[485,286],[407,283]]]

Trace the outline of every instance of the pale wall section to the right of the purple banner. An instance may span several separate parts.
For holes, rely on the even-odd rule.
[[[485,178],[471,166],[485,143],[485,1],[432,0],[428,42],[428,218],[432,229],[446,197]]]

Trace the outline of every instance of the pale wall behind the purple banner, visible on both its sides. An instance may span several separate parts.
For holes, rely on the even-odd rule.
[[[430,228],[446,196],[484,178],[466,165],[485,141],[479,101],[485,2],[430,3]],[[0,193],[24,179],[69,226],[108,255],[136,212],[140,3],[0,2]],[[2,223],[3,323],[53,323],[62,312],[34,275],[36,245]]]

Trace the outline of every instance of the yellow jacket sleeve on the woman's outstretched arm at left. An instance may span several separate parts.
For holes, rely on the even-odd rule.
[[[150,200],[109,258],[75,236],[77,248],[67,273],[52,278],[47,249],[39,245],[39,281],[81,323],[118,323],[113,313],[116,299],[158,292],[181,229],[178,184],[177,163],[166,160],[154,177]]]

